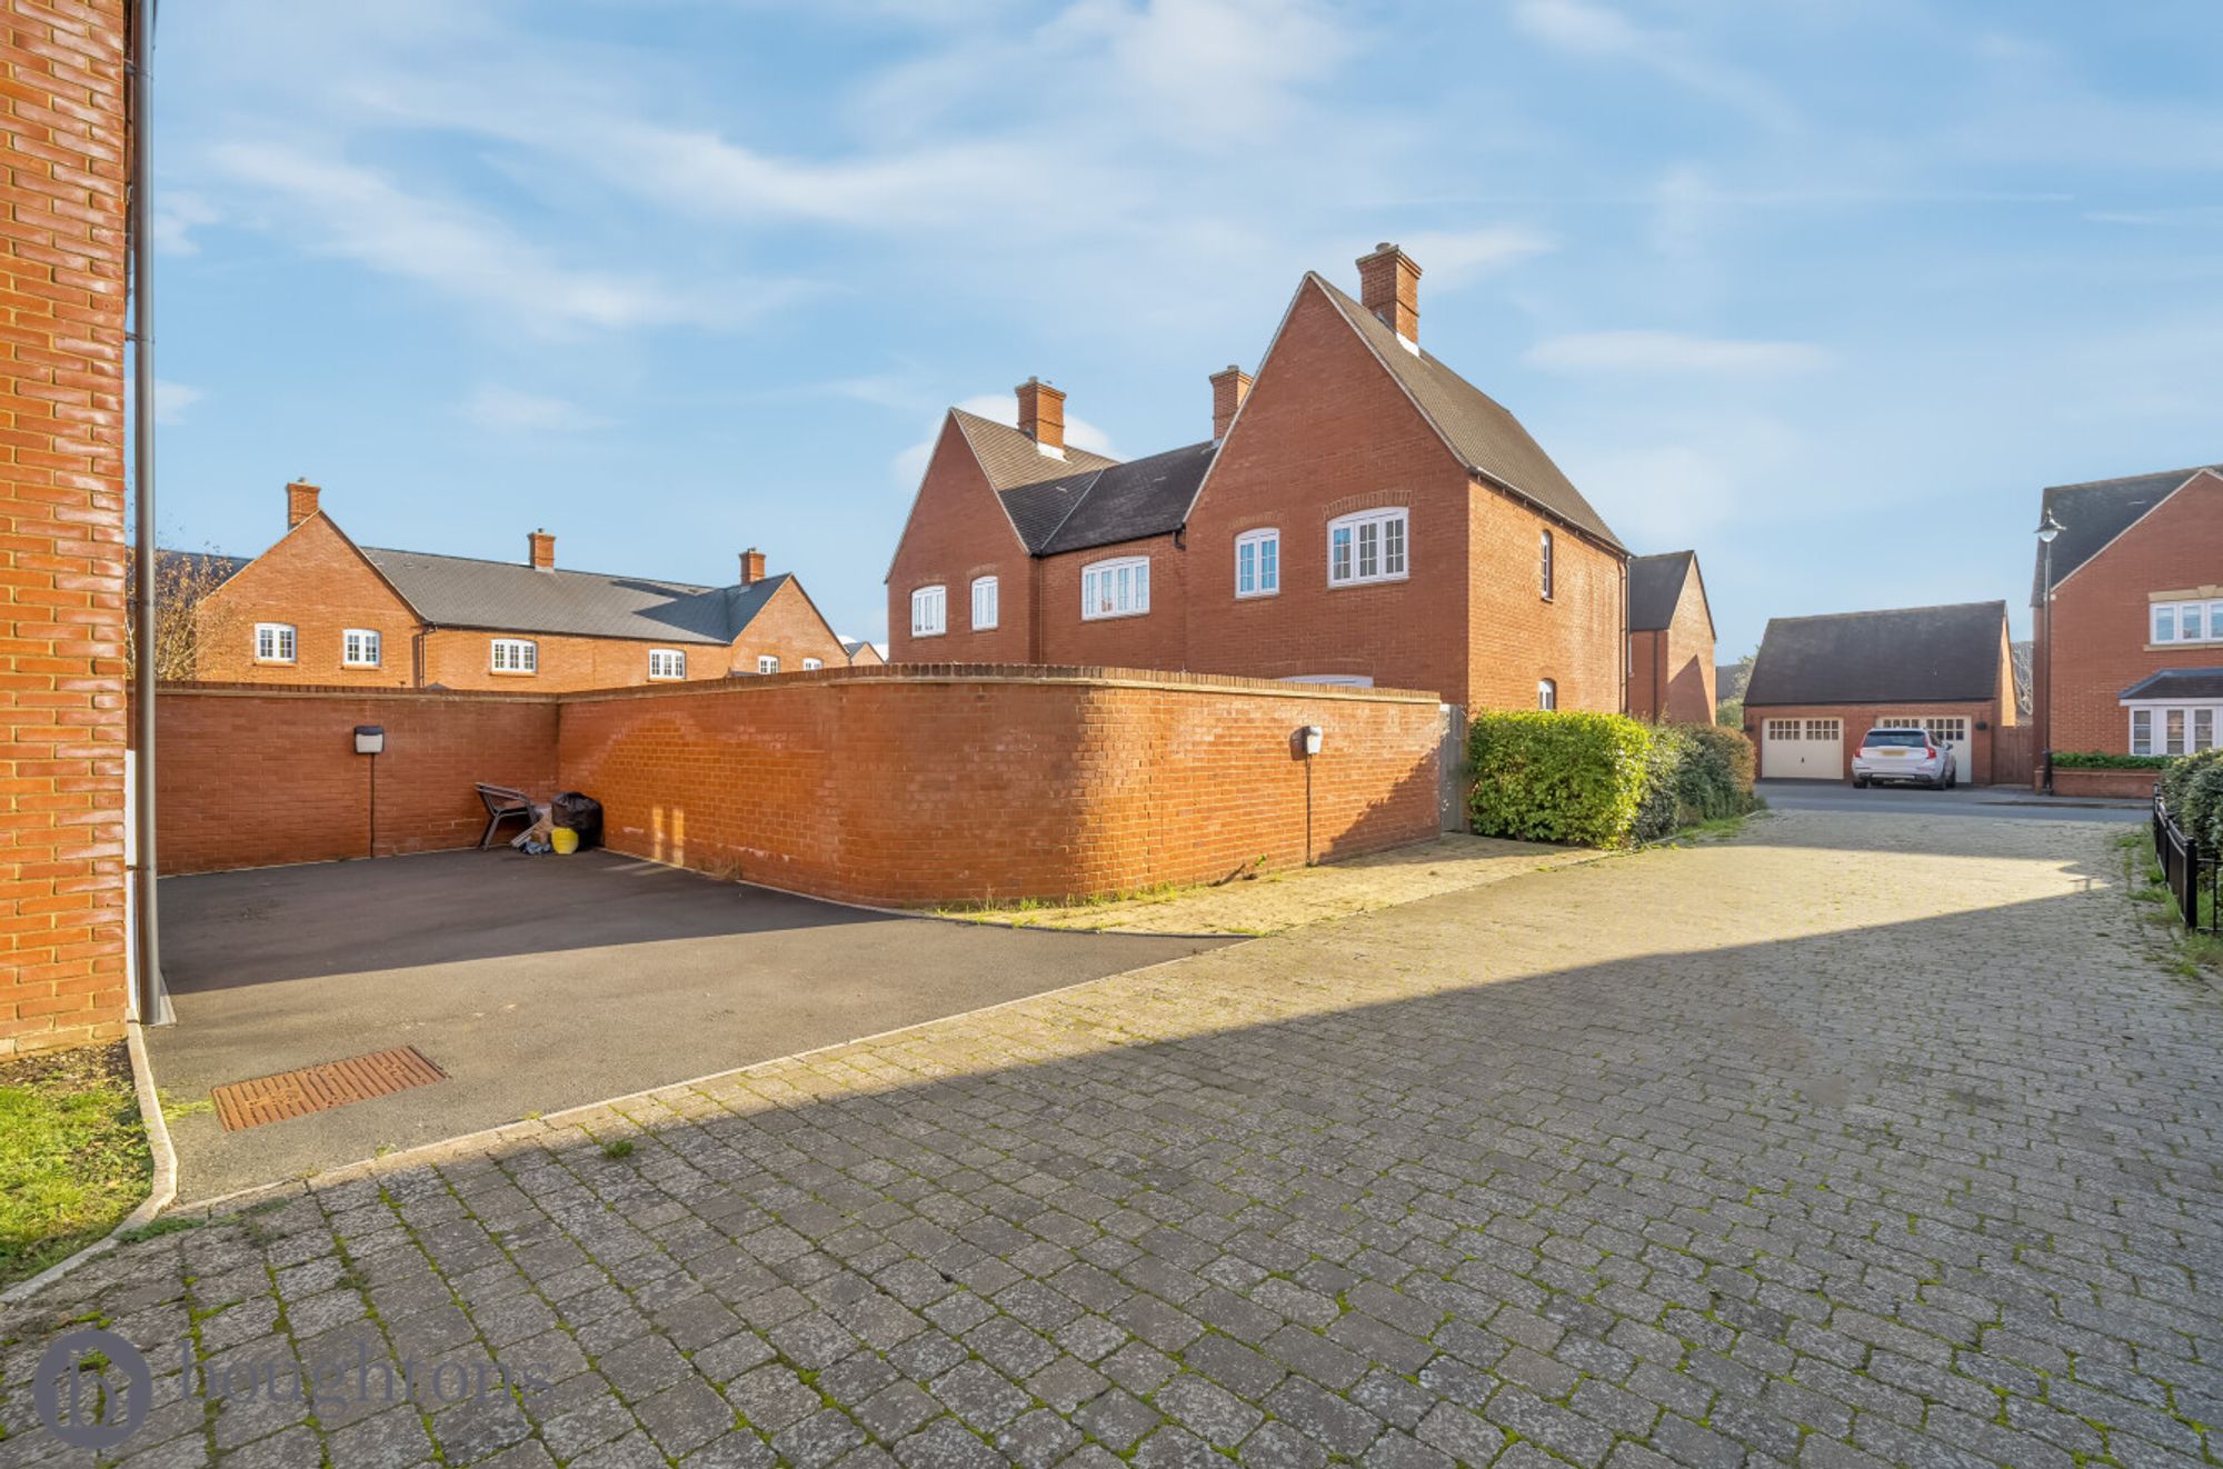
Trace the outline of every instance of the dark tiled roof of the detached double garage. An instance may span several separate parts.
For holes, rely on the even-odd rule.
[[[1996,698],[2005,602],[1770,618],[1745,707]]]

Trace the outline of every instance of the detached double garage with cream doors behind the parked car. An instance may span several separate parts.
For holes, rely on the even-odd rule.
[[[2007,604],[1772,618],[1745,687],[1767,780],[1843,780],[1878,724],[1927,729],[1990,785],[1992,733],[2016,722]]]

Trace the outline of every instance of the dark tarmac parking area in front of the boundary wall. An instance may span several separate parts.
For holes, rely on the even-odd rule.
[[[151,1031],[178,1198],[516,1122],[1209,949],[891,918],[611,853],[167,878]],[[227,1133],[211,1087],[416,1047],[449,1080]]]

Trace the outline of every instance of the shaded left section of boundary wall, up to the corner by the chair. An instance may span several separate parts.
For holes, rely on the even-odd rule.
[[[487,825],[476,782],[560,789],[556,716],[551,698],[498,693],[165,684],[162,871],[360,858],[373,833],[378,856],[471,847]],[[356,724],[385,727],[382,756],[356,753]]]

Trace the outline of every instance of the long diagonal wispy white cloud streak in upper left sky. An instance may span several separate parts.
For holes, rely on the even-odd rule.
[[[311,249],[494,307],[540,329],[725,324],[729,309],[636,276],[571,269],[460,204],[287,144],[227,142],[211,162],[265,191]],[[731,300],[720,291],[722,300]]]

